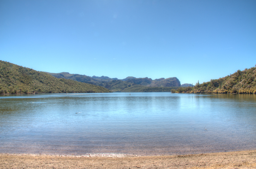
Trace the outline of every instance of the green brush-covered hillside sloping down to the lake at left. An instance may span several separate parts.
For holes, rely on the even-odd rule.
[[[110,92],[102,86],[55,78],[50,74],[0,61],[0,94]]]

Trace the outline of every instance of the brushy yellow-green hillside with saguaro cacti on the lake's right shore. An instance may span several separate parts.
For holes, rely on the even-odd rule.
[[[256,65],[255,65],[256,66]],[[210,82],[199,82],[193,87],[172,89],[172,93],[235,93],[256,94],[256,67],[237,70],[223,78],[211,79]]]

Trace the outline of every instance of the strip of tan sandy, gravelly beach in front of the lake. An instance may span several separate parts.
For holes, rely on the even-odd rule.
[[[256,168],[256,150],[168,156],[0,154],[0,168]]]

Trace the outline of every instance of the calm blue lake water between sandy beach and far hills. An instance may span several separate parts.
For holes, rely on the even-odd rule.
[[[256,95],[0,96],[0,153],[168,155],[251,149],[256,149]]]

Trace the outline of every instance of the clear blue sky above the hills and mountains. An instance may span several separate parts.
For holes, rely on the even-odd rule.
[[[255,66],[256,1],[1,0],[0,60],[52,73],[208,82]]]

